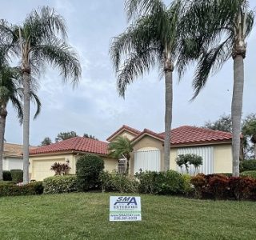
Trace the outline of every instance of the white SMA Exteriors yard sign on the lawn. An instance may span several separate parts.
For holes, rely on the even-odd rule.
[[[141,197],[110,196],[110,221],[142,221]]]

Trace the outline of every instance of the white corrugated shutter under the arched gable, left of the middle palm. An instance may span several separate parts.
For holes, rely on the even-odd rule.
[[[137,151],[134,153],[134,174],[142,171],[160,171],[160,150]]]

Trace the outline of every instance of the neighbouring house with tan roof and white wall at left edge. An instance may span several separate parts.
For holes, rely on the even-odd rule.
[[[34,147],[30,147],[33,149]],[[13,143],[4,143],[3,170],[20,169],[23,170],[23,146]]]

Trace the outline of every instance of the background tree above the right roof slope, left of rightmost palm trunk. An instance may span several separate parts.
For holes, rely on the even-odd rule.
[[[205,122],[205,125],[203,127],[206,127],[208,129],[212,130],[219,130],[224,132],[232,133],[232,120],[231,115],[223,114],[218,118],[218,120],[214,122]]]

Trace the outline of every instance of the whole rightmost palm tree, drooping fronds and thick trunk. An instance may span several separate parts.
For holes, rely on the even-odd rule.
[[[190,21],[190,26],[186,24]],[[239,176],[239,150],[244,85],[246,38],[254,23],[254,12],[247,0],[190,1],[183,18],[186,47],[198,55],[194,77],[194,98],[206,85],[211,72],[216,72],[229,59],[234,60],[234,86],[231,104],[233,175]],[[186,66],[190,59],[179,59]],[[185,68],[180,68],[181,72]]]

